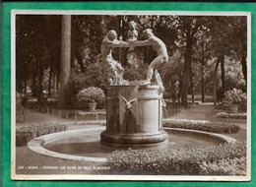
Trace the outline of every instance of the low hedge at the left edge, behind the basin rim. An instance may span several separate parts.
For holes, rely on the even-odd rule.
[[[16,146],[25,146],[33,138],[65,131],[67,125],[65,124],[48,124],[48,125],[27,125],[22,126],[16,130]]]

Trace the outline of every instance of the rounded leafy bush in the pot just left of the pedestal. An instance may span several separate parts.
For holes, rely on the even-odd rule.
[[[85,105],[88,102],[102,102],[104,97],[104,92],[96,87],[83,89],[77,94],[77,100],[81,105]]]

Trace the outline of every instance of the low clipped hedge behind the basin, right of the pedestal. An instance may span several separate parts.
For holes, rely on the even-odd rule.
[[[186,120],[186,119],[168,119],[162,122],[163,127],[193,129],[207,131],[212,133],[237,133],[239,126],[229,123]]]

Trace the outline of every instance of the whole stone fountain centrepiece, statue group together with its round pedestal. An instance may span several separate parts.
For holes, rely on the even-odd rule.
[[[160,149],[167,144],[168,134],[162,130],[162,92],[164,88],[156,71],[158,85],[151,85],[155,69],[167,62],[164,43],[152,31],[146,30],[147,39],[137,41],[136,24],[129,23],[128,42],[117,40],[115,31],[109,31],[101,44],[102,62],[113,70],[113,78],[106,91],[106,130],[101,133],[101,145],[106,148]],[[149,66],[147,80],[130,84],[123,80],[121,64],[112,56],[113,47],[152,45],[158,57]],[[129,54],[129,53],[128,53]]]

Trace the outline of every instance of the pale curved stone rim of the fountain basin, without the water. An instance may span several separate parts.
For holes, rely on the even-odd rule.
[[[106,162],[107,161],[106,157],[73,156],[73,155],[67,155],[67,154],[60,154],[60,153],[56,153],[56,152],[46,150],[41,146],[43,144],[48,144],[50,142],[60,140],[63,137],[66,137],[67,135],[78,136],[78,134],[83,134],[84,135],[84,133],[92,133],[92,132],[97,132],[97,131],[100,131],[100,130],[103,131],[104,129],[105,129],[105,127],[97,127],[97,128],[90,128],[90,129],[79,129],[79,130],[63,131],[63,132],[43,135],[43,136],[32,139],[32,141],[30,141],[28,143],[28,148],[32,152],[34,152],[36,154],[43,155],[43,156],[52,156],[52,157],[56,157],[56,158],[72,159],[72,160],[84,160],[84,161],[90,161],[90,162]],[[201,135],[205,135],[205,136],[209,136],[209,137],[212,137],[212,138],[219,139],[221,141],[224,141],[225,143],[236,142],[236,140],[231,138],[231,137],[228,137],[228,136],[225,136],[225,135],[222,135],[222,134],[217,134],[217,133],[209,133],[209,132],[205,132],[205,131],[171,128],[171,127],[165,127],[163,129],[164,130],[179,131],[179,132],[188,132],[188,133],[201,134]]]

